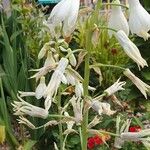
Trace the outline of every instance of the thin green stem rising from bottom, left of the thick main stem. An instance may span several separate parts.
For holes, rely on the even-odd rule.
[[[58,91],[58,102],[57,102],[57,106],[58,106],[58,114],[61,114],[61,91],[59,89]],[[61,118],[60,118],[61,120]],[[60,150],[63,150],[63,130],[62,130],[62,123],[58,124],[58,128],[59,128],[59,140],[60,140]]]

